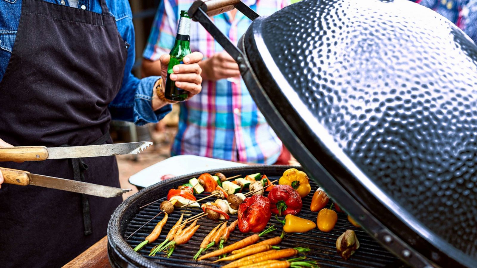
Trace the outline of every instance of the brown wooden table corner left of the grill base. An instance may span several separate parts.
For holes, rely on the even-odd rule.
[[[103,237],[63,268],[111,268],[108,260],[108,238]]]

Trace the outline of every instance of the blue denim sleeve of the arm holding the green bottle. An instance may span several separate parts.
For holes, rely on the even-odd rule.
[[[121,10],[122,7],[118,7],[118,2],[122,1],[108,1],[108,6],[115,6],[116,9],[114,10],[113,8],[111,10],[112,13],[119,11],[119,15],[114,15],[116,25],[124,41],[129,43],[130,46],[128,48],[122,86],[113,102],[109,104],[109,110],[113,120],[130,121],[137,125],[156,123],[169,113],[172,108],[171,105],[166,105],[156,112],[152,110],[153,87],[160,77],[150,76],[138,79],[131,73],[135,62],[135,36],[132,13],[127,1],[124,1],[124,12],[121,12],[123,10]]]

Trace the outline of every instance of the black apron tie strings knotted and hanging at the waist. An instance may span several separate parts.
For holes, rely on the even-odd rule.
[[[97,139],[92,144],[88,145],[99,145],[104,144],[109,139],[109,133],[106,132],[103,136]],[[68,147],[70,145],[63,144],[60,147]],[[83,161],[83,158],[72,158],[71,165],[73,168],[73,180],[84,182],[84,171],[88,170],[88,165]],[[91,224],[91,208],[88,200],[88,196],[82,194],[82,207],[83,207],[83,226],[84,226],[84,235],[88,236],[93,233],[93,227]]]

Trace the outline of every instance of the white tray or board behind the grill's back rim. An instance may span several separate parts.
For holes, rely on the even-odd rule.
[[[176,155],[130,176],[129,183],[139,187],[147,187],[160,182],[163,175],[182,176],[210,169],[239,166],[246,165],[197,155]]]

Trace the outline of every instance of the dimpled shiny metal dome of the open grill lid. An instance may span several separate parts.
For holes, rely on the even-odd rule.
[[[275,94],[310,130],[295,131],[301,141],[321,141],[419,235],[475,260],[475,43],[408,0],[303,0],[251,28]]]

